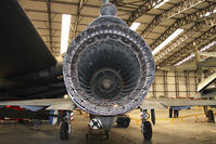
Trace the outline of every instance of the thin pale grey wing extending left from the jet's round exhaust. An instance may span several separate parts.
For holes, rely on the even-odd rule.
[[[47,107],[47,110],[72,110],[75,108],[71,99],[47,99],[47,100],[22,100],[22,101],[1,101],[0,106],[21,106],[29,109],[36,107]]]

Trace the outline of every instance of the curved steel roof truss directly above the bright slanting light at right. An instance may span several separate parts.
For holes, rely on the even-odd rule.
[[[196,11],[192,14],[186,15],[182,18],[177,19],[171,26],[168,27],[168,29],[162,36],[160,36],[160,38],[157,40],[152,42],[150,48],[152,50],[154,50],[158,44],[161,44],[165,39],[167,39],[177,28],[179,28],[183,25],[190,24],[192,22],[195,22],[198,19],[204,19],[205,17],[201,16],[201,15],[204,15],[206,13],[209,13],[208,16],[213,15],[214,14],[213,11],[215,9],[216,9],[216,4],[213,4],[213,5],[209,5],[205,9],[202,9],[200,11]],[[216,19],[216,17],[215,17],[215,19]],[[216,21],[207,18],[206,23],[208,23],[207,25],[213,25],[213,24],[216,23]]]

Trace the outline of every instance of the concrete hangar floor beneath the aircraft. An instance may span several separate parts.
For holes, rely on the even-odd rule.
[[[180,118],[168,119],[168,110],[156,110],[156,125],[153,126],[152,141],[144,141],[139,119],[139,110],[129,114],[128,128],[113,128],[110,139],[91,135],[86,139],[86,114],[74,113],[72,134],[68,141],[61,141],[58,126],[41,125],[38,131],[28,125],[0,122],[0,144],[216,144],[216,125],[207,122],[201,108],[180,112]],[[186,116],[186,117],[185,117]],[[101,131],[102,132],[102,131]],[[100,132],[99,132],[100,133]]]

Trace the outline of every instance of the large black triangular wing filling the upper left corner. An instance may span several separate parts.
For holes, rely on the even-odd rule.
[[[0,17],[0,78],[46,69],[56,63],[17,0],[2,1]]]

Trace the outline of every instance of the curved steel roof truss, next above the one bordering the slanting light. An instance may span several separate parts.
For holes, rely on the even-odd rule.
[[[155,16],[155,18],[149,24],[149,26],[141,32],[141,36],[143,35],[143,37],[145,38],[163,21],[169,19],[202,2],[205,2],[205,0],[183,0],[179,4],[176,4],[171,9]]]

